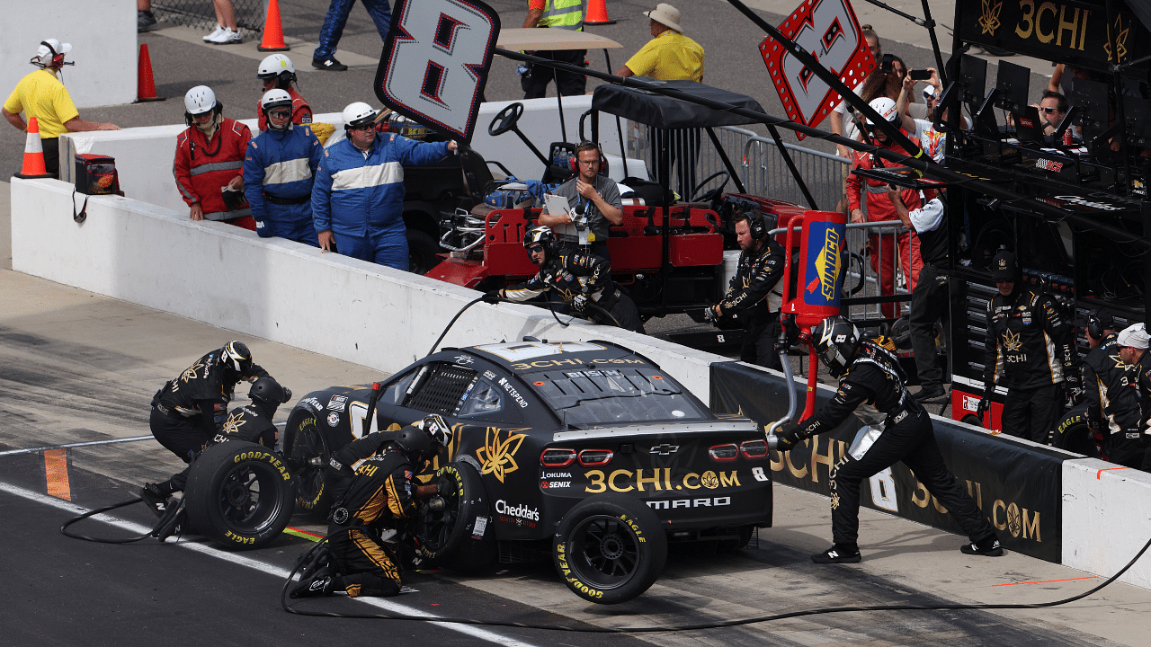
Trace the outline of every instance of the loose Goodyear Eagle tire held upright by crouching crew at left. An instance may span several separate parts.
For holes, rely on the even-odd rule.
[[[288,463],[254,442],[221,442],[192,464],[184,493],[188,517],[224,548],[260,548],[291,518]]]

